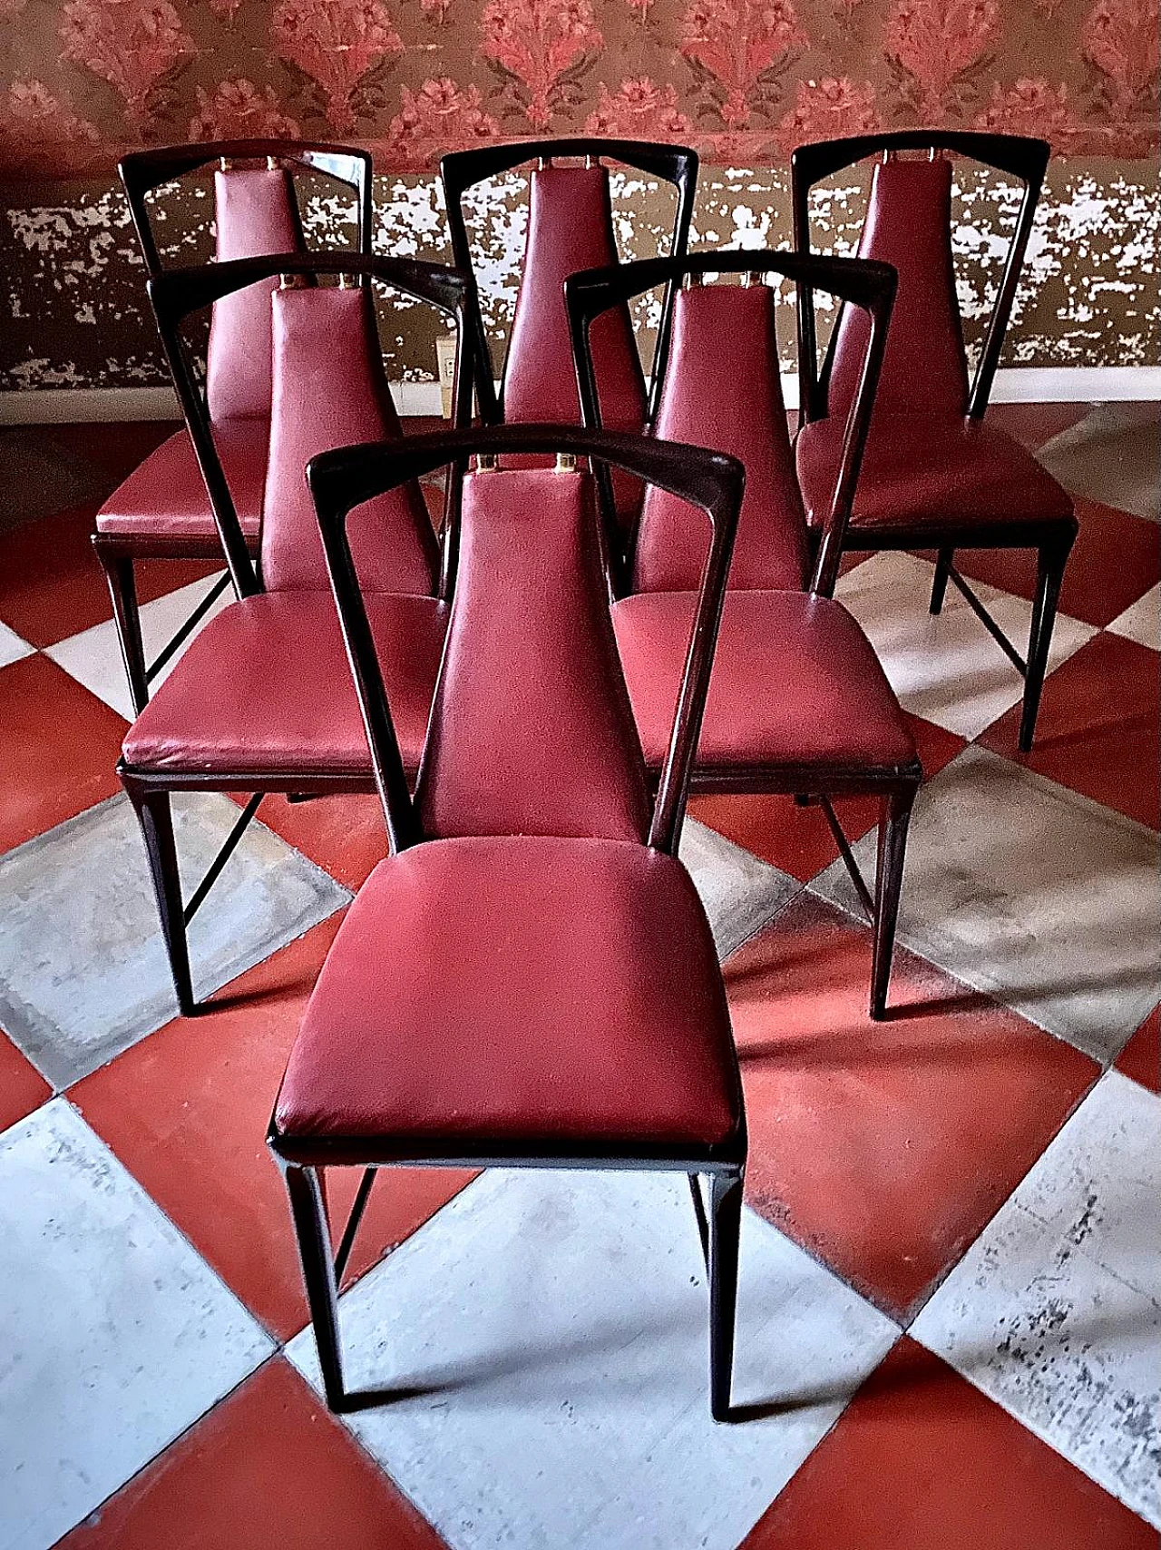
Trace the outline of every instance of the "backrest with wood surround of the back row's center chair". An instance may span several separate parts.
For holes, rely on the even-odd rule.
[[[583,158],[584,164],[558,166],[561,158]],[[563,285],[578,270],[617,262],[605,161],[634,167],[674,186],[677,205],[670,254],[680,256],[688,245],[698,155],[684,146],[598,138],[538,140],[454,152],[440,161],[440,178],[457,268],[473,268],[463,211],[465,192],[530,161],[538,166],[530,174],[524,264],[499,397],[493,386],[487,335],[482,321],[479,324],[481,415],[488,425],[501,418],[508,423],[552,420],[575,425],[580,409],[574,391]],[[673,294],[667,293],[662,304],[662,335],[668,332],[671,302]],[[594,341],[594,353],[609,426],[640,429],[651,418],[656,400],[646,397],[628,307],[617,308],[603,321]]]

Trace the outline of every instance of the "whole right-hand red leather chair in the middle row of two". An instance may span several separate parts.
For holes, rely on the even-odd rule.
[[[825,267],[818,267],[825,265]],[[786,426],[773,291],[701,285],[704,274],[784,276],[831,291],[868,321],[856,391],[842,415],[842,457],[828,493],[817,555]],[[566,282],[587,425],[600,425],[600,391],[587,346],[594,319],[660,284],[680,290],[673,333],[657,353],[654,434],[713,446],[746,467],[746,498],[730,587],[693,769],[696,790],[787,792],[822,803],[874,927],[871,1017],[884,1017],[899,914],[907,825],[922,769],[879,660],[832,598],[843,530],[874,403],[894,276],[882,264],[778,253],[710,253],[577,274]],[[606,501],[609,494],[606,491]],[[680,677],[685,632],[707,535],[688,508],[648,490],[631,547],[629,584],[612,622],[637,728],[651,769]],[[874,897],[829,798],[880,798]]]

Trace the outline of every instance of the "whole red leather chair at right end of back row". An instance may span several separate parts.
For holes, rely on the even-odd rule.
[[[899,152],[925,150],[925,160]],[[942,152],[1017,178],[1023,198],[975,377],[967,378],[952,265],[952,164]],[[792,157],[798,253],[811,250],[811,189],[868,157],[874,169],[859,254],[891,264],[899,291],[879,397],[846,530],[848,549],[936,549],[932,612],[947,583],[964,595],[1025,679],[1020,747],[1035,735],[1048,648],[1065,564],[1077,533],[1073,502],[1011,436],[984,420],[1020,268],[1040,197],[1049,147],[1020,135],[935,129],[800,146]],[[865,339],[863,321],[845,310],[815,369],[814,308],[798,293],[803,425],[797,440],[806,515],[818,527],[834,485],[842,415]],[[1034,549],[1037,584],[1026,659],[1008,640],[955,567],[956,549]]]

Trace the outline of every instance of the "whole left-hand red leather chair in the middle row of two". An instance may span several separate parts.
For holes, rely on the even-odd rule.
[[[191,313],[277,274],[284,287],[267,294],[273,397],[256,570],[181,326]],[[206,625],[141,710],[126,733],[118,764],[144,832],[178,1006],[186,1015],[195,1009],[186,925],[262,797],[374,790],[305,465],[327,448],[350,440],[398,440],[401,431],[383,374],[370,285],[290,284],[333,274],[380,281],[453,318],[460,341],[456,414],[463,423],[471,406],[471,366],[463,356],[470,276],[405,259],[287,254],[171,270],[149,282],[237,591],[237,600]],[[448,501],[456,499],[453,477]],[[440,556],[415,484],[400,485],[360,510],[352,542],[397,707],[400,742],[414,770],[443,649],[454,544],[445,542]],[[174,848],[175,790],[253,794],[188,902]]]

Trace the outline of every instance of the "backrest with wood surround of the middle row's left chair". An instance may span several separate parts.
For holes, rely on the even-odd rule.
[[[284,284],[268,299],[273,310],[273,415],[262,515],[262,580],[246,552],[237,512],[214,445],[214,428],[183,322],[242,287],[274,277]],[[339,287],[295,285],[339,276]],[[267,254],[233,264],[167,270],[149,282],[181,411],[206,482],[231,577],[239,595],[257,591],[324,591],[329,586],[318,522],[305,482],[316,453],[364,440],[400,440],[401,431],[378,350],[369,284],[378,281],[450,315],[456,326],[454,423],[471,414],[471,276],[412,259],[363,254]],[[344,284],[350,281],[353,284]],[[457,477],[448,480],[448,510]],[[377,499],[352,522],[363,583],[375,592],[450,595],[454,544],[440,563],[419,485],[412,480]],[[436,580],[439,572],[439,583]]]

